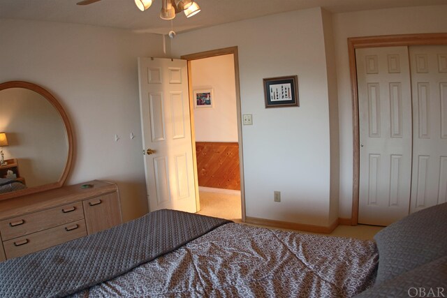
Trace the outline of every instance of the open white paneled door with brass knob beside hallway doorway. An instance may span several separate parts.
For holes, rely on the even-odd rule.
[[[139,58],[138,75],[149,211],[196,212],[186,60]]]

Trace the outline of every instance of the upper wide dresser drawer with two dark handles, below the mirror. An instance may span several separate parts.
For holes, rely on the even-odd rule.
[[[17,216],[15,218],[0,221],[1,239],[3,241],[24,236],[48,228],[71,223],[84,218],[82,202],[66,204],[33,214]]]

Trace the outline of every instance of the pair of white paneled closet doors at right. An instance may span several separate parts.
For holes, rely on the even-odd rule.
[[[356,50],[358,223],[389,225],[446,202],[447,46]]]

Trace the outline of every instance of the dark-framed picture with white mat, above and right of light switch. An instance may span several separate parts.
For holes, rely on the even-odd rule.
[[[263,79],[265,108],[299,107],[298,75]]]

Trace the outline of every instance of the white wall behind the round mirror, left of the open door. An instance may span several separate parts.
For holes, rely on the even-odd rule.
[[[33,82],[59,100],[76,142],[66,184],[117,182],[124,221],[147,212],[137,57],[163,57],[161,40],[101,27],[0,20],[0,82]]]

